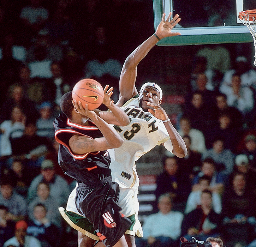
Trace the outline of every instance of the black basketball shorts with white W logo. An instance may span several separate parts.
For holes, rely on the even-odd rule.
[[[107,247],[115,245],[132,224],[120,213],[121,207],[116,203],[118,194],[119,186],[112,182],[111,176],[89,186],[78,183],[77,187],[77,210],[89,219],[97,236]]]

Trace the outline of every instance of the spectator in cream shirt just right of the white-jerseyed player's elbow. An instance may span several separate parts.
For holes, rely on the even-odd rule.
[[[199,153],[202,153],[206,150],[203,133],[198,129],[191,128],[190,120],[188,118],[182,117],[180,119],[180,129],[178,132],[181,137],[184,135],[189,135],[191,138],[191,150]]]

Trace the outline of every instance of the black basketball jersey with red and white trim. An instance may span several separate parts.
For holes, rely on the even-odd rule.
[[[90,123],[91,126],[72,123],[62,112],[54,120],[55,139],[60,143],[59,165],[65,174],[86,184],[93,184],[111,175],[108,150],[76,155],[70,149],[69,139],[74,134],[85,135],[91,139],[103,137],[100,130],[92,122]]]

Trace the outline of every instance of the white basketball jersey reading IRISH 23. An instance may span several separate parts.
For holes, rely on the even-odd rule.
[[[138,189],[139,178],[135,161],[156,145],[169,139],[163,122],[139,107],[139,99],[131,98],[121,107],[130,117],[127,126],[114,126],[124,140],[123,145],[110,149],[112,180],[121,188]]]

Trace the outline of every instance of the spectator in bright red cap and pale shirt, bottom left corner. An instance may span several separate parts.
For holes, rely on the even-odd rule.
[[[25,221],[18,221],[15,226],[15,236],[7,240],[4,243],[4,247],[10,245],[13,246],[24,246],[24,247],[41,247],[41,243],[38,239],[26,234],[28,224]]]

